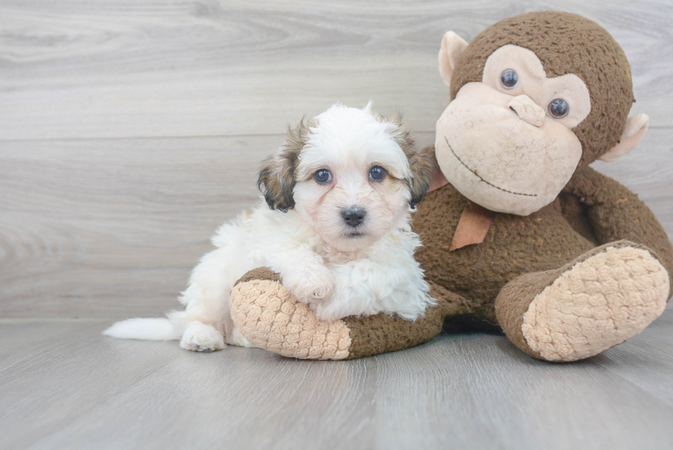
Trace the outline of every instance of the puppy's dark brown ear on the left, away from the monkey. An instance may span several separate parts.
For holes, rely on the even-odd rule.
[[[272,210],[288,212],[295,207],[295,169],[307,139],[308,126],[301,120],[295,128],[288,127],[284,144],[262,163],[257,185]]]

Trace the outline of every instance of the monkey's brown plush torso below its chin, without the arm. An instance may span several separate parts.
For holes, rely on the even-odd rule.
[[[494,302],[507,282],[558,269],[595,247],[573,229],[557,199],[526,217],[496,214],[482,243],[450,251],[467,203],[450,184],[426,195],[414,214],[413,230],[423,243],[415,258],[428,280],[470,300],[473,311],[465,313],[490,322],[497,323]]]

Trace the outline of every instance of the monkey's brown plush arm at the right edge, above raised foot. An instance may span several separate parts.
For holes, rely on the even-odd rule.
[[[654,213],[624,185],[592,168],[579,170],[564,188],[586,206],[600,244],[626,239],[650,247],[673,275],[673,246]]]

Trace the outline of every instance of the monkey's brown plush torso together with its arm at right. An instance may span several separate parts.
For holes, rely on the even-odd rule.
[[[579,183],[582,187],[596,186],[599,191],[581,192],[580,196]],[[594,247],[615,240],[658,247],[654,253],[673,273],[673,249],[650,210],[635,194],[595,170],[582,170],[562,196],[538,212],[525,217],[497,214],[483,243],[449,251],[467,202],[450,184],[427,194],[414,216],[413,230],[424,244],[415,256],[426,278],[471,300],[471,313],[492,322],[497,323],[495,299],[507,282],[523,273],[558,269]],[[640,236],[619,229],[624,225],[621,214],[603,215],[619,217],[618,223],[597,223],[593,219],[592,208],[617,207],[637,213],[631,219],[644,225]],[[610,228],[617,235],[606,236],[606,229]]]

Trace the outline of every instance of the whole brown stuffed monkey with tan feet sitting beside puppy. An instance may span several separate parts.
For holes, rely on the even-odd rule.
[[[562,12],[504,19],[468,45],[448,32],[437,121],[441,172],[418,205],[416,254],[437,305],[407,322],[315,318],[267,269],[247,273],[231,313],[254,344],[288,357],[352,359],[428,341],[444,320],[499,326],[547,361],[576,361],[640,333],[665,308],[673,247],[623,185],[587,167],[637,146],[630,67],[600,25]]]

